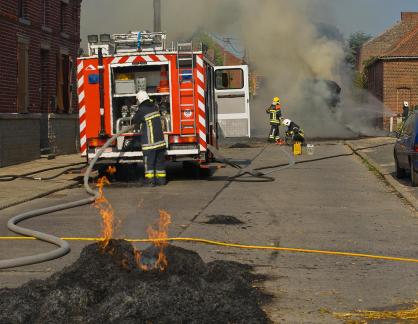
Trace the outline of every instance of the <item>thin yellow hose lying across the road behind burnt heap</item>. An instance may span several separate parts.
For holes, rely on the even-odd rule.
[[[82,242],[98,242],[98,241],[103,240],[102,238],[85,238],[85,237],[63,237],[62,239],[65,241],[82,241]],[[36,239],[33,237],[22,237],[22,236],[0,237],[0,241],[6,241],[6,240],[24,241],[24,240],[36,240]],[[222,247],[245,249],[245,250],[264,250],[264,251],[282,251],[282,252],[293,252],[293,253],[323,254],[323,255],[336,255],[336,256],[345,256],[345,257],[353,257],[353,258],[367,258],[367,259],[385,260],[385,261],[418,263],[418,259],[410,259],[410,258],[397,258],[397,257],[362,254],[362,253],[309,250],[309,249],[285,248],[285,247],[275,247],[275,246],[243,245],[243,244],[225,243],[225,242],[218,242],[218,241],[211,241],[211,240],[206,240],[206,239],[201,239],[201,238],[190,238],[190,237],[175,237],[175,238],[167,238],[167,239],[161,239],[161,240],[126,239],[126,241],[131,242],[131,243],[189,242],[189,243],[199,243],[199,244],[222,246]]]

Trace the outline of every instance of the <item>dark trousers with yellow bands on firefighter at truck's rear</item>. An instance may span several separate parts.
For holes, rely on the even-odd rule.
[[[156,185],[167,184],[165,149],[145,150],[143,153],[146,181]]]

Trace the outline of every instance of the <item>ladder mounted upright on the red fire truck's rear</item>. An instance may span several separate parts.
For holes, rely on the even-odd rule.
[[[180,136],[196,136],[195,79],[193,43],[177,43]],[[192,119],[190,117],[193,116]]]

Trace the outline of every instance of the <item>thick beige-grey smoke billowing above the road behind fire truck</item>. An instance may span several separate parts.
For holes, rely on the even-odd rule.
[[[122,2],[131,3],[106,2],[115,9]],[[129,6],[130,12],[137,13],[130,29],[149,28],[151,5],[152,0],[143,0]],[[365,95],[354,93],[358,90],[351,86],[351,72],[344,66],[344,42],[338,30],[329,27],[333,15],[326,1],[163,0],[162,7],[163,28],[171,39],[189,39],[201,29],[242,40],[251,69],[264,80],[251,104],[255,135],[268,132],[265,108],[275,96],[282,99],[284,115],[302,126],[308,137],[375,134],[374,121],[384,109],[371,98],[367,104],[356,100]],[[112,32],[123,32],[126,21]],[[147,26],[139,26],[141,21]],[[326,84],[319,82],[312,89],[312,80],[318,79],[336,81],[343,88],[335,111],[327,105],[331,93]]]

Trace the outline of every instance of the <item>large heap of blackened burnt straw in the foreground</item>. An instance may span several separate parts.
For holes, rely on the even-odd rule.
[[[250,266],[206,264],[170,245],[167,270],[144,272],[126,241],[111,241],[102,252],[89,245],[49,279],[1,289],[0,323],[269,323]]]

